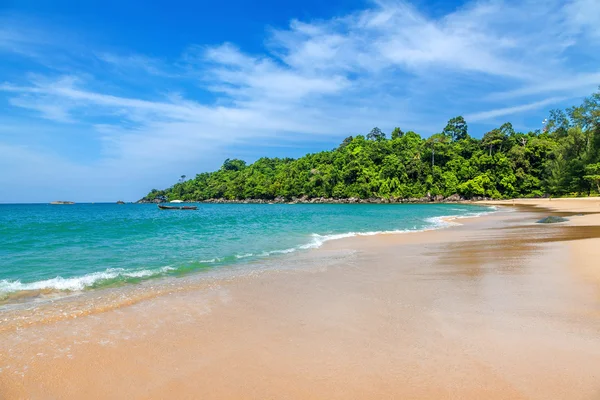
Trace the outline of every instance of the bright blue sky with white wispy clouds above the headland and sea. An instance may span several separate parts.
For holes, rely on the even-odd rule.
[[[0,203],[135,201],[375,126],[539,129],[600,85],[598,21],[598,0],[0,0]]]

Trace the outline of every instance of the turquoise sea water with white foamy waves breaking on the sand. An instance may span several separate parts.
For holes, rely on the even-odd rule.
[[[436,205],[0,205],[0,296],[83,290],[277,260],[327,240],[416,231],[486,207]],[[251,266],[249,265],[249,268]]]

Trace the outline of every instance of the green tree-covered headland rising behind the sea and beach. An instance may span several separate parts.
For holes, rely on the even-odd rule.
[[[582,104],[552,110],[540,129],[512,124],[469,135],[455,117],[428,138],[395,128],[348,136],[336,148],[298,159],[227,159],[141,201],[470,199],[581,196],[600,192],[600,88]],[[454,196],[456,198],[457,196]]]

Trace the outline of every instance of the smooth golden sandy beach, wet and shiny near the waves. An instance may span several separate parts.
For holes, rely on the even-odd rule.
[[[0,398],[598,399],[600,200],[535,224],[543,202],[86,313],[0,311]]]

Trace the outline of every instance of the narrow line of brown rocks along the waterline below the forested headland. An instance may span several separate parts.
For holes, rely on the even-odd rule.
[[[487,200],[485,198],[474,198],[471,200]],[[425,197],[410,197],[410,198],[397,198],[397,197],[371,197],[368,199],[359,199],[357,197],[350,197],[344,199],[336,199],[330,197],[313,197],[307,196],[292,197],[286,199],[284,197],[276,197],[272,200],[265,199],[242,199],[242,200],[228,200],[228,199],[207,199],[200,201],[193,201],[195,203],[212,203],[212,204],[398,204],[398,203],[455,203],[459,201],[467,201],[467,199],[453,194],[448,197],[441,195],[437,196],[425,196]],[[162,199],[141,199],[138,203],[162,203]]]

